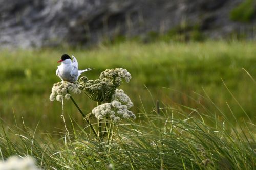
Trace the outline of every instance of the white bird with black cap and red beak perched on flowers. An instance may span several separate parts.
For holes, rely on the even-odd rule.
[[[78,62],[76,58],[72,55],[73,61],[68,54],[63,54],[60,60],[61,62],[56,70],[56,75],[63,81],[75,82],[78,80],[78,77],[86,71],[90,71],[93,68],[87,68],[84,70],[78,70]]]

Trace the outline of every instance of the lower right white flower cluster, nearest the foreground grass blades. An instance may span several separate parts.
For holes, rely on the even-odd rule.
[[[129,96],[123,93],[123,90],[116,89],[113,94],[113,99],[111,103],[104,103],[92,110],[92,114],[95,115],[99,120],[103,117],[109,116],[111,120],[115,123],[121,121],[122,118],[133,118],[135,115],[133,112],[129,111],[133,106],[133,102]]]

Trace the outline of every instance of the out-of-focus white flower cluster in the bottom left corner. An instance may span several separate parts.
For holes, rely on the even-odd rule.
[[[25,157],[19,158],[17,156],[12,156],[6,161],[0,162],[1,170],[39,170],[36,167],[33,158]]]

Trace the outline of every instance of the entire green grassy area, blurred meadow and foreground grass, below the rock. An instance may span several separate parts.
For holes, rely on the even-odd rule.
[[[87,50],[1,50],[1,157],[31,155],[45,169],[253,169],[255,46],[129,41]],[[123,121],[100,143],[64,100],[67,143],[62,104],[49,100],[64,53],[77,58],[79,69],[95,68],[82,74],[89,79],[127,69],[132,79],[120,88],[134,103],[136,120]],[[83,93],[72,96],[83,113],[97,106]]]

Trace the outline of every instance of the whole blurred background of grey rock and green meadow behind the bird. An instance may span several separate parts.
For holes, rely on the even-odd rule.
[[[255,120],[255,23],[255,0],[0,0],[0,117],[63,128],[61,103],[49,95],[60,81],[56,62],[68,53],[80,69],[95,68],[89,79],[108,68],[131,72],[121,88],[135,114],[159,100],[174,113],[231,115],[231,108]],[[96,106],[86,95],[74,98],[86,113]]]

